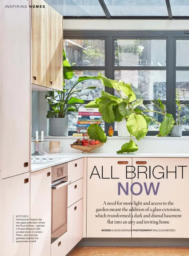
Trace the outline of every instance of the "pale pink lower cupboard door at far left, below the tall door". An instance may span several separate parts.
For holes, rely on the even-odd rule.
[[[3,254],[8,256],[29,256],[29,241],[20,240],[18,219],[26,219],[29,222],[29,190],[30,174],[24,173],[1,181],[2,194],[2,227],[1,233]],[[20,216],[21,215],[21,216]],[[16,220],[17,219],[17,220]],[[16,230],[17,229],[17,230]],[[20,242],[18,242],[20,241]]]

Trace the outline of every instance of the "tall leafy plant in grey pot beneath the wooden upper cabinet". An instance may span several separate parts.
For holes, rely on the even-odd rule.
[[[65,79],[71,79],[73,77],[73,70],[65,56],[63,50],[63,88],[62,91],[56,91],[58,95],[55,96],[54,92],[50,92],[50,95],[46,95],[48,104],[51,110],[47,111],[47,118],[49,118],[50,136],[68,136],[69,118],[66,115],[69,112],[78,112],[76,103],[84,103],[84,100],[76,97],[71,97],[75,92],[79,92],[84,89],[95,89],[96,87],[85,87],[76,89],[77,83],[67,92],[64,88]],[[67,92],[67,93],[66,93]],[[58,98],[57,98],[58,97]],[[57,100],[58,99],[58,100]]]

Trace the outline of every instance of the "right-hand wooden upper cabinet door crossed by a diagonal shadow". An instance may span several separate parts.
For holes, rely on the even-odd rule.
[[[62,15],[48,6],[49,26],[49,87],[63,87],[63,27]]]

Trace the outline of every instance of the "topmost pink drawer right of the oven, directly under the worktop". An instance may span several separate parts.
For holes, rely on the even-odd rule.
[[[83,178],[83,158],[68,163],[68,180],[74,182]]]

